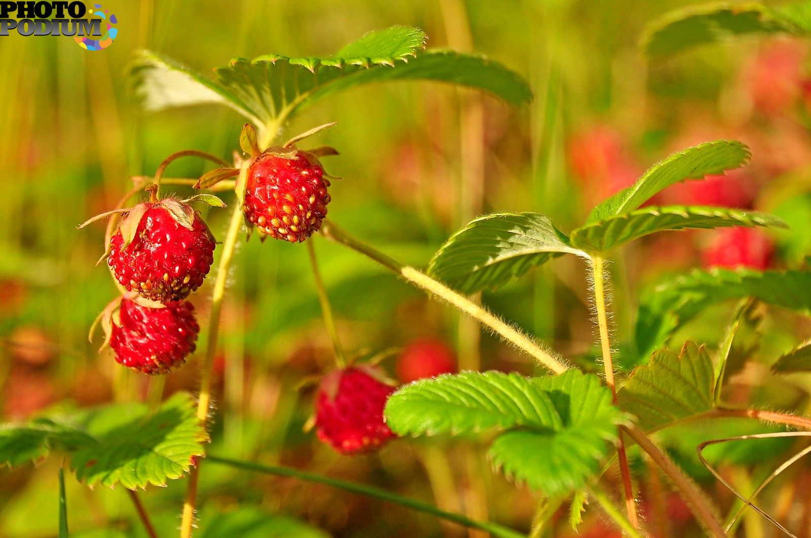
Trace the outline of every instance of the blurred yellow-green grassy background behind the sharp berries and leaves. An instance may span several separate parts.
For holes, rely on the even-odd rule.
[[[170,153],[197,148],[228,158],[237,147],[242,122],[229,110],[139,112],[126,78],[139,48],[208,72],[234,56],[328,56],[365,32],[397,23],[423,28],[429,47],[484,53],[526,76],[535,100],[524,109],[474,92],[403,83],[353,90],[288,126],[292,135],[338,122],[313,142],[341,152],[324,163],[342,178],[333,182],[328,218],[417,267],[473,216],[540,211],[569,229],[590,204],[668,152],[724,137],[753,147],[753,163],[744,173],[753,186],[751,204],[777,210],[804,229],[811,222],[807,47],[787,40],[743,41],[648,65],[637,49],[642,28],[686,3],[117,2],[105,3],[120,22],[118,39],[103,51],[88,52],[67,37],[0,38],[4,416],[19,419],[51,405],[144,396],[143,377],[115,365],[109,352],[98,354],[99,341],[88,344],[88,327],[115,289],[106,268],[94,266],[103,252],[103,224],[75,227],[114,207],[132,175],[154,173]],[[197,177],[205,166],[181,160],[168,175]],[[687,201],[680,196],[684,192],[667,200]],[[212,209],[208,217],[215,236],[223,236],[223,212]],[[633,324],[640,288],[662,272],[701,265],[710,237],[656,237],[617,260],[620,339]],[[772,239],[777,254],[770,263],[778,267],[796,265],[807,254],[806,233]],[[526,357],[487,335],[479,346],[474,326],[366,259],[320,237],[315,241],[345,348],[398,347],[428,336],[452,343],[461,367],[533,371]],[[579,264],[562,258],[498,293],[485,293],[484,301],[593,368]],[[225,380],[217,399],[218,452],[370,481],[416,497],[433,495],[445,508],[526,528],[533,498],[492,475],[472,440],[443,441],[440,450],[431,448],[436,443],[394,442],[379,456],[346,459],[302,432],[311,395],[299,391],[298,382],[329,369],[331,361],[307,266],[301,246],[254,238],[239,248],[221,340],[221,365],[227,368],[222,367]],[[194,300],[204,327],[208,295],[204,287]],[[728,305],[706,317],[710,322],[694,323],[687,335],[714,343]],[[772,325],[777,330],[768,332],[766,354],[808,334],[795,318]],[[170,376],[169,389],[194,390],[198,368],[193,357]],[[792,401],[795,392],[780,390],[783,400]],[[461,445],[473,446],[473,455]],[[49,461],[0,476],[0,536],[54,536],[56,465]],[[298,515],[336,536],[463,534],[426,516],[378,509],[375,501],[320,486],[254,478],[247,488],[246,480],[204,466],[203,514],[243,502]],[[109,527],[137,536],[139,527],[121,492],[90,492],[68,482],[75,532]],[[177,527],[181,494],[182,484],[174,484],[145,495],[165,536]],[[683,524],[685,536],[697,532]],[[607,536],[601,527],[590,528],[592,536]]]

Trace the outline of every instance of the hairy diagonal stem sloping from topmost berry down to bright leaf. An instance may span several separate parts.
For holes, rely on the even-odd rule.
[[[380,263],[380,265],[388,267],[388,269],[403,276],[405,280],[408,280],[411,284],[415,284],[418,288],[423,288],[423,290],[431,292],[436,295],[436,297],[440,297],[441,300],[457,307],[457,309],[469,315],[471,318],[477,319],[497,335],[500,335],[505,341],[513,344],[516,348],[521,349],[521,351],[528,353],[541,365],[551,369],[552,372],[561,374],[568,369],[568,366],[564,365],[559,356],[542,348],[539,344],[534,342],[530,336],[525,335],[521,331],[517,331],[517,329],[508,325],[508,323],[505,323],[500,318],[485,310],[481,305],[477,305],[467,297],[454,292],[453,289],[432,279],[422,271],[418,271],[414,269],[414,267],[403,265],[394,258],[390,258],[379,250],[375,250],[371,246],[358,241],[341,230],[341,228],[337,228],[335,224],[324,223],[321,228],[321,233],[324,233],[324,236],[333,241],[341,243],[341,245],[357,250],[359,253]]]

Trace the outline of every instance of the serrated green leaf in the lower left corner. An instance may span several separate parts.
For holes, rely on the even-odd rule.
[[[144,404],[114,404],[6,425],[0,429],[0,461],[15,466],[60,450],[70,455],[78,480],[136,489],[181,477],[192,458],[204,454],[207,438],[194,399],[181,392],[153,413]]]

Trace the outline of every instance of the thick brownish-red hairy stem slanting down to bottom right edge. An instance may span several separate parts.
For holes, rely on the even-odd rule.
[[[679,489],[684,502],[687,503],[687,506],[689,506],[693,515],[696,516],[698,522],[702,524],[705,532],[716,538],[724,538],[727,536],[723,531],[723,527],[717,515],[714,513],[716,510],[714,510],[710,499],[698,489],[698,486],[693,484],[693,481],[684,475],[684,473],[676,467],[676,464],[659,449],[659,446],[656,446],[636,425],[624,426],[623,429],[637,442],[637,445],[639,445],[642,450],[646,451],[650,459],[653,459],[654,463],[659,465],[659,468],[662,469],[665,476]]]

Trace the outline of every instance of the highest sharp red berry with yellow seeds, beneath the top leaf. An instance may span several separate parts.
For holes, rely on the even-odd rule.
[[[257,156],[248,169],[243,211],[265,236],[300,243],[327,215],[329,180],[315,156],[279,149]]]

